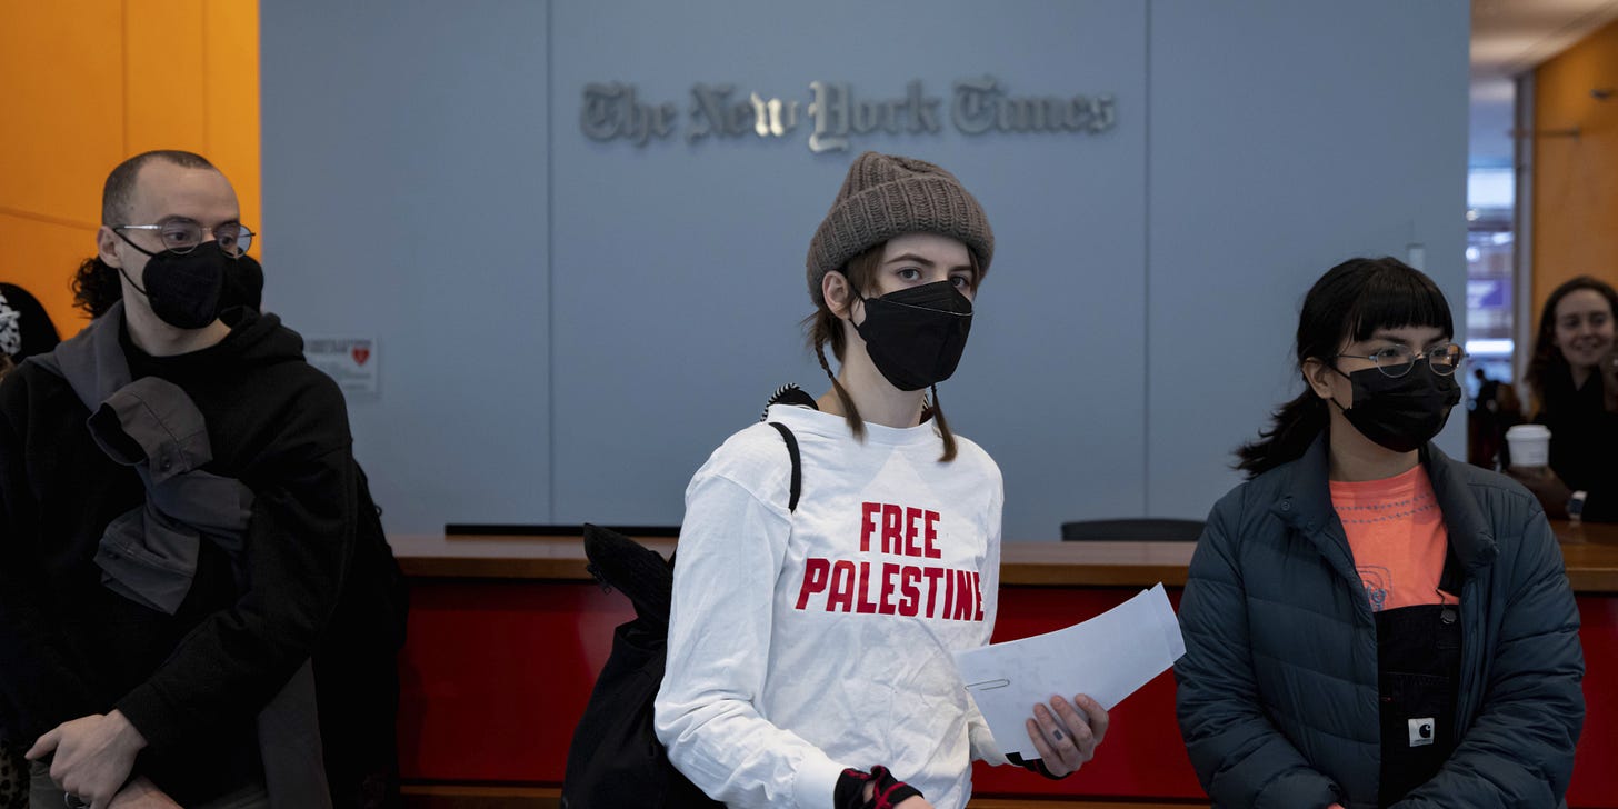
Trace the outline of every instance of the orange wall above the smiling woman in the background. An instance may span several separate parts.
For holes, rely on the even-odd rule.
[[[1618,283],[1618,23],[1534,74],[1534,327],[1545,298],[1574,275]],[[1531,349],[1531,348],[1529,348]]]

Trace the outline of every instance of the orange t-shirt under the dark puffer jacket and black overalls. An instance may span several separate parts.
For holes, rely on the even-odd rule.
[[[1382,481],[1330,484],[1332,508],[1348,534],[1372,612],[1458,602],[1438,592],[1450,532],[1425,468],[1416,464]]]

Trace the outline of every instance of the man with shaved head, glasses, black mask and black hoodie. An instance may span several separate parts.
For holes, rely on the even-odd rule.
[[[330,806],[309,657],[351,438],[303,340],[223,306],[252,238],[205,159],[123,162],[76,283],[97,317],[0,385],[0,731],[34,807]]]

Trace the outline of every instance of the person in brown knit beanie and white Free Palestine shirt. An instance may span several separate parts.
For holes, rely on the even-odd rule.
[[[1053,696],[1026,723],[1042,757],[1005,756],[955,671],[951,652],[993,631],[1003,495],[937,385],[993,252],[955,175],[854,159],[806,259],[832,390],[786,387],[765,413],[801,450],[801,492],[765,424],[686,490],[657,735],[726,806],[959,809],[972,760],[1060,778],[1107,733],[1095,701]]]

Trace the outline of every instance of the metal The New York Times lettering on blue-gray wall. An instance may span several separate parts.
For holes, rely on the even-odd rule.
[[[903,97],[864,99],[846,83],[809,83],[811,99],[762,97],[733,84],[696,84],[686,108],[684,139],[786,139],[809,133],[812,152],[849,149],[861,134],[938,134],[948,123],[963,134],[1047,133],[1099,134],[1118,121],[1116,100],[1102,95],[1008,94],[993,76],[955,83],[948,112],[943,99],[911,81]],[[673,138],[681,115],[675,102],[649,102],[634,84],[586,84],[579,126],[592,141],[636,146]]]

